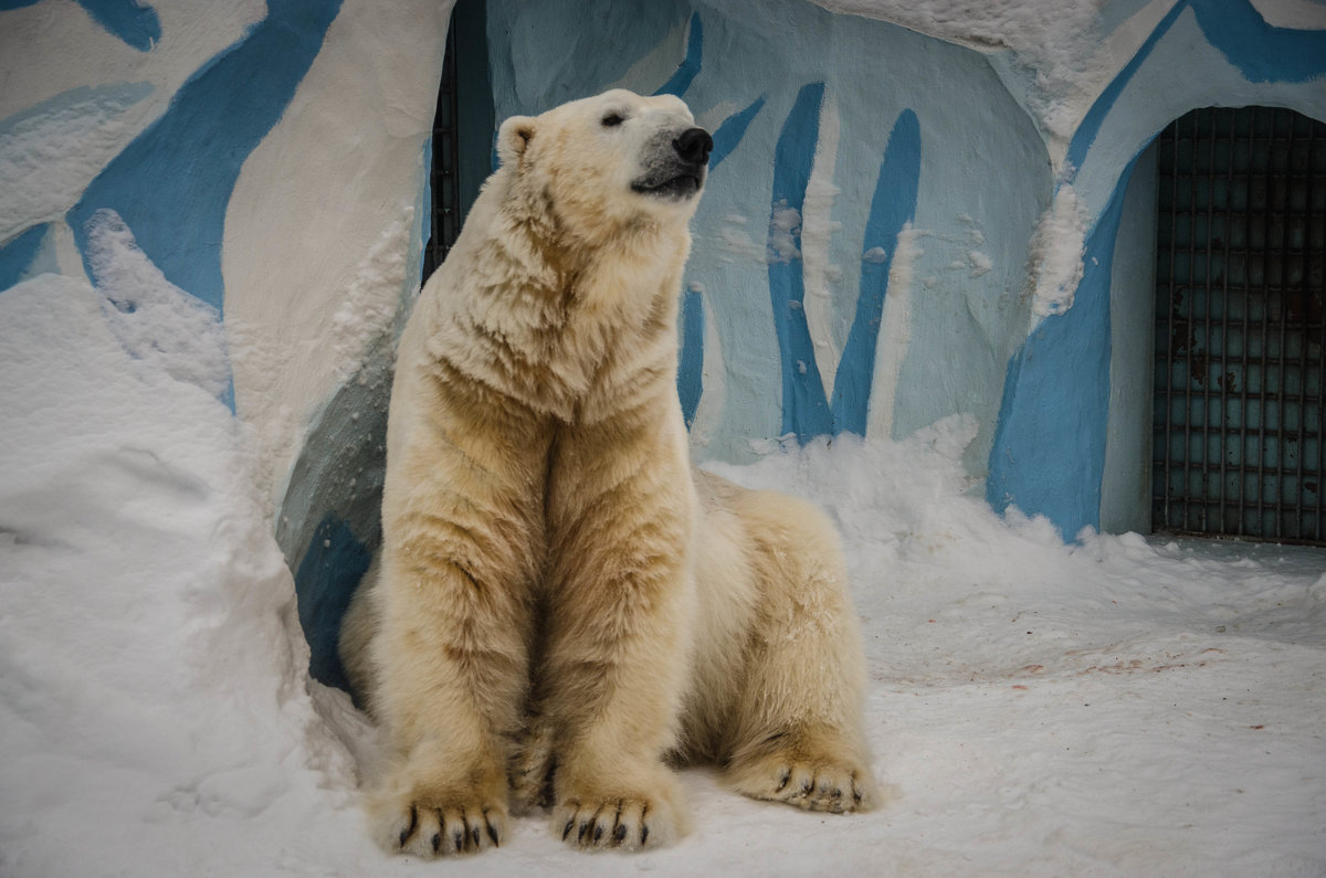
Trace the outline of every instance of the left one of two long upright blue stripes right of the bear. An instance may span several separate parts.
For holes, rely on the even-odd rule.
[[[806,184],[810,182],[819,139],[819,105],[823,95],[823,82],[802,86],[782,125],[773,153],[773,206],[769,215],[769,300],[782,369],[782,432],[796,434],[802,443],[833,432],[833,415],[806,324],[801,257],[773,255],[773,223],[780,211],[792,208],[800,214],[805,207]],[[800,225],[792,233],[792,245],[800,253]]]

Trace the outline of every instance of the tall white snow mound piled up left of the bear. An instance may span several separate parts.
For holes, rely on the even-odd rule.
[[[358,833],[244,431],[176,377],[195,347],[135,355],[200,326],[156,305],[0,294],[0,874],[257,875],[313,814]]]

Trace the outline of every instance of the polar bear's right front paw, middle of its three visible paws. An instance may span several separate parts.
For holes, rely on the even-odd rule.
[[[591,850],[660,847],[686,832],[678,798],[671,776],[652,793],[569,792],[553,810],[553,832],[572,846]]]

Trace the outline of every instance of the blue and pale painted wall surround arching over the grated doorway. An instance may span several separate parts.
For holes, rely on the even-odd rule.
[[[1180,0],[1131,20],[1144,38],[1077,125],[1058,184],[1086,220],[1083,275],[1073,306],[1038,322],[1009,362],[987,480],[992,505],[1046,515],[1067,537],[1101,525],[1109,292],[1138,155],[1195,107],[1288,106],[1326,119],[1326,5]]]

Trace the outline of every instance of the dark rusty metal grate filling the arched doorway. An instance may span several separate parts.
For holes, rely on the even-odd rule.
[[[1152,525],[1326,544],[1326,123],[1195,110],[1158,160]]]

